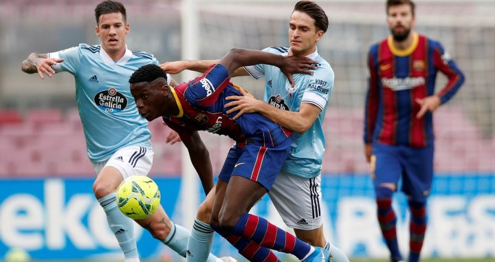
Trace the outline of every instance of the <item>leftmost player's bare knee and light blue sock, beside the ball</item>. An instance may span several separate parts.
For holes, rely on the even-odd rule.
[[[117,168],[106,166],[100,171],[93,184],[93,192],[107,214],[109,226],[115,234],[125,262],[137,262],[139,254],[134,238],[133,220],[118,209],[115,191],[122,182],[122,174]]]

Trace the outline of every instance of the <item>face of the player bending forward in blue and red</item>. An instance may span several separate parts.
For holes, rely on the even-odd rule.
[[[163,115],[166,103],[162,89],[153,83],[141,82],[131,84],[131,94],[134,97],[137,111],[143,118],[152,121]]]

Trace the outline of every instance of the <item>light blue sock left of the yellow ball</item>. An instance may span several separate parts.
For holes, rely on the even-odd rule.
[[[118,209],[117,202],[115,201],[115,193],[111,193],[105,197],[98,199],[100,206],[102,206],[105,214],[107,214],[107,221],[110,229],[115,238],[117,239],[120,249],[124,252],[124,258],[138,258],[137,246],[134,238],[134,225],[133,219],[126,217]]]

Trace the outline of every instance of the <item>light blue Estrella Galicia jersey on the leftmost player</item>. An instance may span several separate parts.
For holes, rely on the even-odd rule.
[[[141,67],[158,61],[146,52],[126,52],[114,62],[100,45],[80,44],[48,54],[63,58],[55,72],[69,72],[76,80],[76,102],[83,122],[87,155],[91,162],[102,162],[124,146],[151,149],[148,121],[140,116],[129,78]]]

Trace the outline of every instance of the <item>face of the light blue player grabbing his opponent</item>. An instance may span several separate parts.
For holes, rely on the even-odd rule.
[[[305,12],[294,11],[289,22],[289,54],[307,56],[316,50],[316,43],[323,36],[318,30],[314,19]]]

